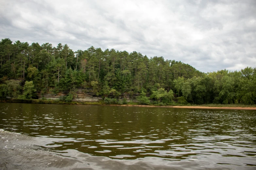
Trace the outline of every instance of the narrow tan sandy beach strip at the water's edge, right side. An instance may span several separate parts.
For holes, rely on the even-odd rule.
[[[210,106],[149,106],[149,105],[104,105],[104,106],[129,106],[129,107],[168,107],[168,108],[192,108],[192,109],[232,109],[232,110],[256,110],[256,107],[210,107]]]

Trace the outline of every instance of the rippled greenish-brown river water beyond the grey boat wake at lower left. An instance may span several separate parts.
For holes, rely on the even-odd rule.
[[[255,110],[0,103],[0,129],[125,169],[256,169]]]

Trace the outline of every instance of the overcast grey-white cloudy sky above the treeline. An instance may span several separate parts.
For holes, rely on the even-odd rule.
[[[256,0],[0,0],[0,38],[256,67]]]

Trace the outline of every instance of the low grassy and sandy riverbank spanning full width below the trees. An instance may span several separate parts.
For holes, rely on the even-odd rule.
[[[21,99],[5,99],[0,102],[8,103],[36,103],[36,104],[61,104],[61,105],[98,105],[98,106],[130,106],[130,107],[169,107],[169,108],[192,108],[192,109],[239,109],[239,110],[256,110],[256,105],[244,105],[244,104],[204,104],[204,105],[140,105],[138,103],[128,103],[123,105],[118,104],[105,104],[100,102],[63,102],[58,100],[21,100]]]

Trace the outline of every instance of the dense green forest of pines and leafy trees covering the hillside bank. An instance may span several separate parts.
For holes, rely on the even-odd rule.
[[[93,46],[73,51],[67,44],[29,45],[9,38],[0,42],[0,60],[2,99],[66,93],[60,100],[69,102],[77,89],[90,89],[105,103],[125,104],[125,96],[136,93],[141,104],[256,103],[255,67],[203,73],[181,61],[148,58],[136,51]]]

